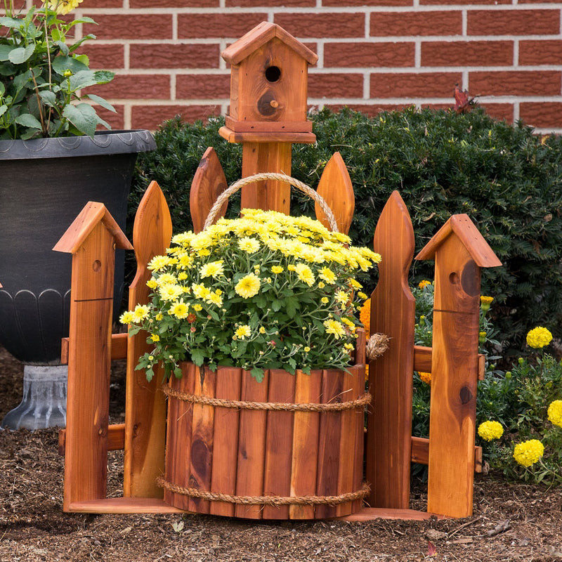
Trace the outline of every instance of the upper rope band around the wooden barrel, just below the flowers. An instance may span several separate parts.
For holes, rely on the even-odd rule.
[[[225,398],[212,398],[210,396],[200,396],[176,391],[169,386],[162,386],[162,391],[166,396],[177,398],[183,402],[192,404],[202,404],[206,406],[236,408],[237,410],[282,410],[285,412],[344,412],[345,410],[355,410],[371,403],[371,395],[363,394],[356,400],[347,402],[330,402],[325,404],[316,403],[285,403],[285,402],[246,402],[244,400],[226,400]]]

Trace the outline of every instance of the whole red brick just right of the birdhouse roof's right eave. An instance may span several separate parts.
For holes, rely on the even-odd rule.
[[[414,66],[415,45],[403,43],[327,43],[326,67],[407,67]]]

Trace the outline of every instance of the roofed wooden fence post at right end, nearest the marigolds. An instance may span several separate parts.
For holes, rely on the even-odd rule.
[[[466,214],[453,215],[416,259],[434,259],[436,272],[427,509],[467,517],[473,502],[481,268],[502,263]]]

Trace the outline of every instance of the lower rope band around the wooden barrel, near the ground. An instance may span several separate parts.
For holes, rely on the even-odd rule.
[[[235,496],[221,492],[207,492],[197,488],[183,488],[183,486],[171,483],[162,477],[157,478],[156,483],[160,488],[165,488],[175,494],[199,497],[211,502],[228,502],[240,505],[338,505],[363,499],[370,492],[370,485],[364,483],[360,490],[347,492],[339,496]]]

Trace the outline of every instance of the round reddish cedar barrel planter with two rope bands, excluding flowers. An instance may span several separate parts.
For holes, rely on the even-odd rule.
[[[362,507],[365,365],[311,374],[182,364],[169,396],[164,501],[254,519],[318,519]]]

